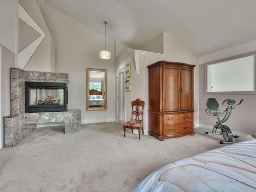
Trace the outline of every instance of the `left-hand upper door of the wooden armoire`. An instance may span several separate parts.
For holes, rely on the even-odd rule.
[[[166,67],[163,70],[164,111],[180,110],[180,68]]]

